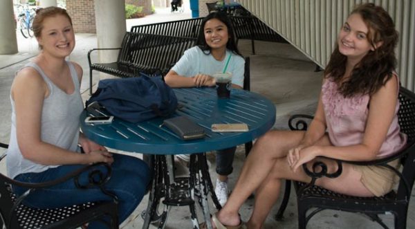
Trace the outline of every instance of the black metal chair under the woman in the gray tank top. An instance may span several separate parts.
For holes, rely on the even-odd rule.
[[[8,145],[0,143],[0,147],[8,148]],[[0,161],[5,157],[6,153],[0,156]],[[100,170],[97,170],[98,167],[105,167],[107,173],[103,174]],[[89,172],[88,185],[81,185],[77,181],[77,177],[83,172]],[[118,228],[117,197],[104,189],[104,184],[109,180],[110,176],[111,167],[106,163],[88,165],[67,176],[45,183],[22,183],[0,174],[0,228],[79,228],[91,221],[102,221],[108,228],[116,229]],[[80,189],[98,185],[102,192],[109,195],[113,201],[89,202],[50,209],[29,208],[22,203],[24,198],[30,195],[31,192],[57,185],[69,179],[73,179]],[[11,191],[11,185],[27,187],[30,191],[21,196],[16,196]],[[62,198],[65,197],[62,196]],[[107,217],[111,220],[104,221],[102,217]]]

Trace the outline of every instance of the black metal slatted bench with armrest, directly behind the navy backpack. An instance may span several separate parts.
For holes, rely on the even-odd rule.
[[[93,48],[88,52],[89,92],[92,94],[93,70],[118,77],[136,77],[139,73],[165,75],[184,51],[195,44],[196,39],[192,37],[127,32],[120,48]],[[106,50],[119,50],[116,62],[91,62],[93,51]]]

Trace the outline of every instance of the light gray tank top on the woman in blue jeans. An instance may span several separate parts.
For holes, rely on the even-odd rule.
[[[82,103],[80,82],[75,67],[71,62],[66,63],[69,66],[72,81],[75,85],[75,91],[70,95],[53,84],[37,64],[29,62],[24,68],[35,68],[42,75],[50,91],[48,97],[44,99],[42,108],[42,141],[76,152],[80,133],[80,113],[84,105]],[[11,95],[10,101],[12,103],[12,126],[6,160],[8,176],[15,178],[19,174],[43,172],[49,168],[57,167],[57,165],[39,165],[25,159],[21,155],[19,145],[17,144],[15,102],[12,100]]]

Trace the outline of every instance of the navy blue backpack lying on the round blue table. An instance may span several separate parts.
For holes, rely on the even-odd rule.
[[[100,80],[97,91],[86,101],[86,107],[95,101],[112,116],[129,122],[169,116],[177,107],[176,95],[163,79],[144,74]]]

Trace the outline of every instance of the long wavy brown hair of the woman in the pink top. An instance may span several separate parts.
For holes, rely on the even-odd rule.
[[[373,95],[392,77],[396,68],[395,47],[398,44],[398,32],[389,14],[373,3],[357,6],[351,12],[351,15],[353,14],[360,15],[369,28],[367,39],[371,46],[375,48],[378,42],[382,42],[382,45],[374,51],[369,51],[353,68],[350,77],[342,82],[340,93],[344,97],[357,94]],[[340,83],[346,71],[346,62],[347,57],[340,53],[336,44],[324,75]]]

